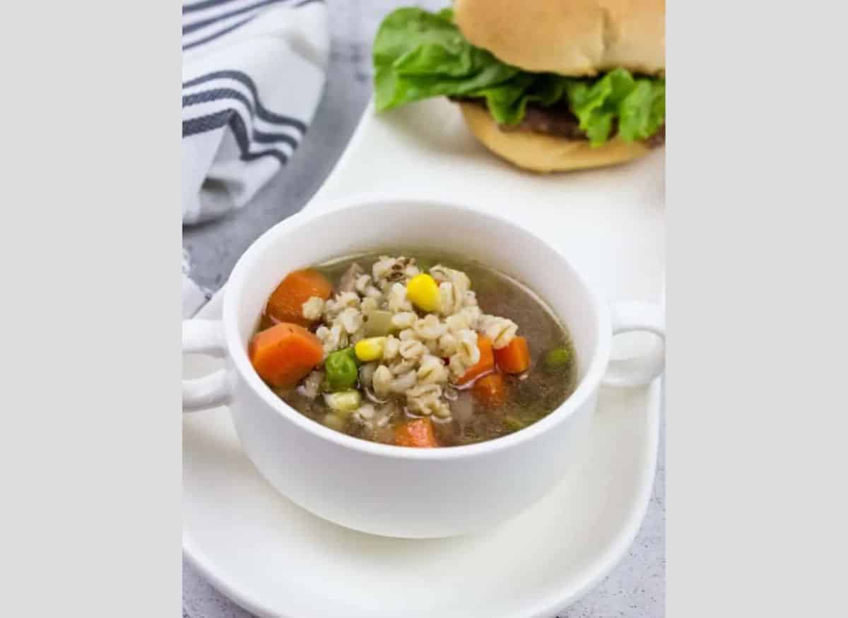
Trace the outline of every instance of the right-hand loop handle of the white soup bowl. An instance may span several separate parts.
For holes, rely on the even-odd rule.
[[[612,335],[646,331],[659,337],[647,354],[611,360],[601,383],[608,387],[637,387],[662,374],[666,365],[666,320],[661,305],[623,302],[610,306]]]

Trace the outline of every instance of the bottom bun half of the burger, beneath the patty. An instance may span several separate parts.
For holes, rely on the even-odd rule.
[[[480,105],[460,103],[460,109],[471,133],[483,146],[525,170],[583,170],[625,163],[650,152],[644,143],[624,142],[619,137],[592,148],[588,140],[568,140],[533,131],[501,131]]]

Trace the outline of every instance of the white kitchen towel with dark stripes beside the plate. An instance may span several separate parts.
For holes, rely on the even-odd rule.
[[[182,221],[244,206],[291,158],[321,98],[324,0],[182,5]],[[183,315],[203,303],[183,271]]]

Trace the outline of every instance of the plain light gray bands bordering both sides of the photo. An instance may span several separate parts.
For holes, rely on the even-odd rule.
[[[836,615],[845,8],[709,8],[668,10],[668,615]],[[7,14],[8,615],[179,611],[178,14]]]

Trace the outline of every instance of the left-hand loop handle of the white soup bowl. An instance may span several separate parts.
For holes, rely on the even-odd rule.
[[[226,354],[224,332],[219,320],[183,320],[182,352],[209,354],[223,358]],[[182,381],[182,411],[215,408],[230,401],[232,391],[226,370],[208,376]]]

